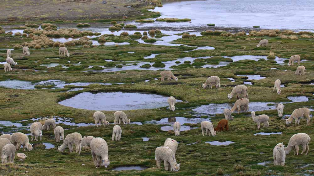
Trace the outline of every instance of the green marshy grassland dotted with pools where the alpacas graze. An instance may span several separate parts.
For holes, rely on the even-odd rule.
[[[161,6],[156,1],[151,6],[158,5]],[[144,19],[141,16],[136,19]],[[65,136],[79,132],[83,137],[105,139],[110,159],[108,168],[95,168],[89,147],[83,148],[80,154],[69,153],[68,148],[58,152],[57,146],[63,141],[55,142],[54,132],[50,129],[43,131],[42,141],[30,141],[32,151],[17,151],[25,153],[26,159],[15,157],[14,164],[2,164],[1,175],[313,175],[313,122],[306,125],[306,120],[301,119],[300,125],[296,126],[294,122],[286,125],[284,120],[301,107],[308,107],[311,117],[314,114],[313,33],[258,28],[243,29],[244,32],[218,30],[212,29],[219,28],[216,22],[215,26],[206,25],[211,21],[204,24],[207,28],[203,31],[167,31],[146,26],[166,21],[155,21],[157,16],[146,18],[152,19],[135,22],[110,19],[115,22],[96,29],[95,25],[99,24],[88,20],[80,23],[88,22],[91,27],[81,30],[75,27],[78,23],[45,24],[46,30],[26,26],[19,29],[22,30],[21,36],[8,33],[16,25],[1,25],[5,29],[5,33],[0,34],[1,134],[29,134],[31,123],[52,117],[57,126],[64,128]],[[178,17],[184,18],[189,16]],[[42,23],[44,21],[36,24],[42,26]],[[126,29],[123,26],[127,24],[137,28]],[[110,31],[110,26],[120,29]],[[152,31],[149,33],[151,29],[154,29],[154,35]],[[141,39],[143,36],[156,41],[145,42]],[[261,39],[268,39],[267,47],[256,47]],[[59,56],[58,49],[63,45],[70,57]],[[23,55],[23,46],[30,48],[30,55]],[[12,66],[11,72],[3,70],[7,49],[14,49],[11,58],[18,63]],[[305,75],[295,75],[297,62],[293,66],[287,65],[292,55],[300,55],[300,65],[306,68]],[[161,82],[162,70],[171,70],[178,81]],[[209,76],[219,76],[219,89],[202,88]],[[277,79],[281,80],[281,94],[273,91]],[[234,120],[229,121],[229,131],[217,132],[215,137],[202,136],[202,120],[193,122],[193,119],[209,120],[216,127],[225,118],[223,109],[236,101],[236,96],[227,97],[236,85],[248,88],[249,112],[232,113]],[[122,137],[118,142],[111,140],[115,110],[108,111],[102,106],[99,110],[105,113],[110,124],[95,127],[95,111],[60,104],[70,99],[76,103],[76,98],[84,93],[101,95],[108,92],[117,95],[119,92],[145,92],[174,96],[181,101],[176,103],[176,111],[170,111],[169,106],[156,108],[154,99],[146,100],[146,104],[151,105],[148,109],[132,109],[132,101],[135,103],[136,99],[126,102],[131,110],[119,109],[117,104],[117,110],[124,111],[133,122],[120,125]],[[98,98],[112,105],[117,101]],[[83,101],[90,107],[94,106],[93,99]],[[121,96],[119,100],[129,101],[127,96]],[[278,117],[278,103],[284,103],[283,118]],[[268,128],[256,128],[251,117],[253,110],[256,115],[269,116]],[[173,130],[164,131],[167,126],[173,129],[175,121],[181,121],[181,128],[186,126],[184,129],[189,130],[181,131],[178,137],[174,136]],[[255,135],[278,132],[281,134]],[[287,146],[290,137],[300,132],[312,138],[308,155],[293,155],[291,151],[286,155],[285,166],[274,166],[274,146],[281,142]],[[143,141],[143,137],[149,140]],[[175,154],[177,163],[181,163],[178,172],[165,171],[163,163],[161,169],[155,168],[155,148],[163,146],[167,138],[179,142]],[[205,143],[213,141],[234,143],[225,146]],[[143,170],[117,171],[119,167],[129,166]]]

